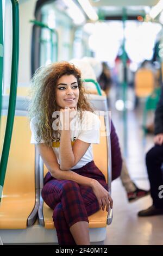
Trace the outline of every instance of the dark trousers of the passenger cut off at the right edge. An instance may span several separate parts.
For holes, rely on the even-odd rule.
[[[146,155],[146,164],[151,185],[151,197],[155,208],[158,209],[163,209],[163,198],[159,198],[159,186],[163,185],[162,163],[163,145],[155,145]]]

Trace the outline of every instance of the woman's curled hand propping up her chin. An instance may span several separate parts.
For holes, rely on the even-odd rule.
[[[61,108],[60,112],[61,112],[60,120],[61,120],[63,129],[69,130],[70,123],[77,113],[77,106],[73,108],[69,108],[69,107]]]

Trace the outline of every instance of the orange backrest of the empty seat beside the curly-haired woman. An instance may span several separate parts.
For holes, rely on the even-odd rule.
[[[1,153],[6,123],[7,110],[3,110],[0,131]],[[33,193],[35,198],[35,148],[30,144],[30,138],[27,112],[16,111],[2,198],[20,197],[27,193]]]

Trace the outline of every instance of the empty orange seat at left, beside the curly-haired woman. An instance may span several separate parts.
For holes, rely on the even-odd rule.
[[[5,101],[8,101],[5,97]],[[21,102],[16,102],[16,108]],[[3,102],[0,149],[7,123],[7,103]],[[19,106],[21,108],[21,106]],[[24,229],[34,223],[39,206],[35,185],[35,147],[30,144],[27,111],[15,111],[7,172],[0,203],[0,233],[3,229]],[[38,182],[37,182],[38,183]]]

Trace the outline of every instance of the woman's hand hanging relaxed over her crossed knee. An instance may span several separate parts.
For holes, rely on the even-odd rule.
[[[109,206],[112,209],[112,198],[109,195],[109,192],[105,190],[105,188],[97,181],[93,181],[92,183],[92,190],[93,193],[95,193],[95,196],[97,197],[98,203],[99,203],[99,209],[102,208],[104,211],[106,206],[106,211],[109,211]]]

